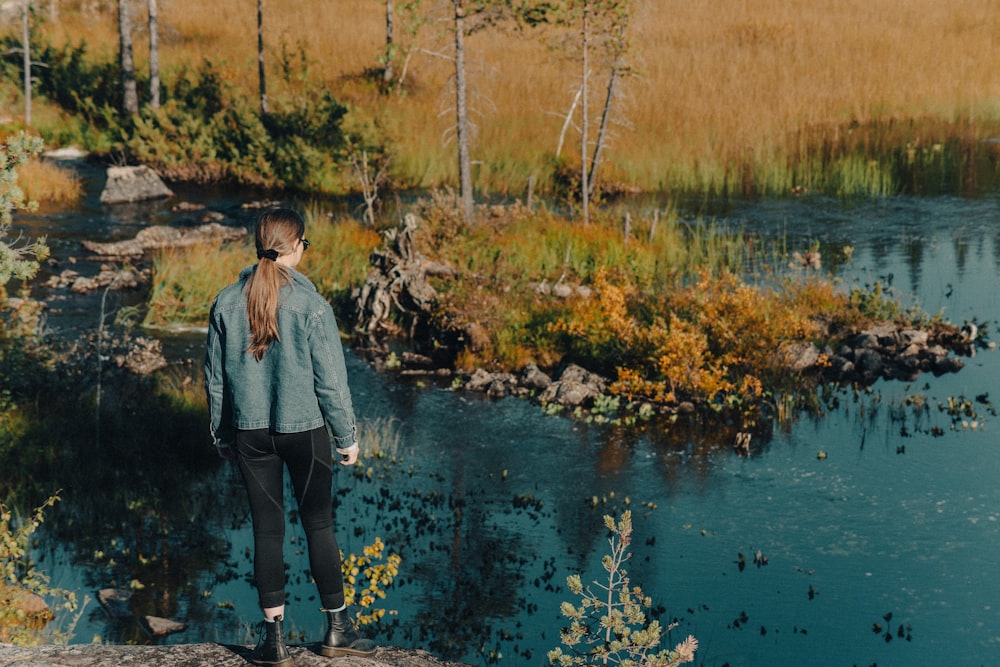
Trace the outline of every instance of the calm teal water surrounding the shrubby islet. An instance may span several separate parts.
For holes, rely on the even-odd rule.
[[[121,237],[157,219],[170,219],[162,206],[116,212],[91,201],[32,229],[56,237],[58,256],[79,252],[83,227]],[[904,303],[996,331],[996,196],[754,203],[727,220],[787,238],[793,250],[818,241],[845,288],[881,281]],[[64,311],[66,326],[73,312]],[[200,344],[195,335],[171,349],[199,358]],[[379,635],[386,643],[471,664],[545,664],[559,645],[559,604],[573,601],[566,576],[599,578],[602,515],[629,507],[633,583],[664,621],[677,620],[671,643],[699,639],[699,664],[1000,664],[1000,439],[983,402],[1000,398],[996,352],[966,359],[958,374],[837,394],[826,415],[776,428],[749,458],[706,444],[710,434],[639,436],[349,362],[359,416],[390,424],[398,438],[400,463],[335,480],[342,548],[360,552],[377,535],[403,556],[385,601],[398,611]],[[907,397],[929,409],[906,407]],[[938,407],[959,397],[976,412],[966,427]],[[141,613],[190,622],[161,641],[249,643],[257,613],[239,480],[214,461],[167,477],[154,492],[166,508],[158,522],[137,511],[90,533],[65,532],[74,538],[48,536],[43,568],[81,596],[140,581]],[[61,511],[72,514],[86,495],[68,489]],[[308,563],[297,528],[286,551],[289,624],[314,641],[321,619],[301,575]],[[152,564],[130,547],[150,543],[150,530],[162,537]],[[765,566],[753,564],[758,550]],[[130,627],[92,602],[73,641],[141,639]]]

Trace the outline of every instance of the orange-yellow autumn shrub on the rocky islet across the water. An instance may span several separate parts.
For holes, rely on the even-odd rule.
[[[787,379],[777,352],[789,342],[822,342],[851,326],[846,295],[831,281],[746,283],[703,272],[651,302],[620,276],[595,273],[596,304],[575,304],[550,331],[585,365],[616,375],[609,391],[629,401],[718,402],[750,416],[764,387]],[[821,357],[821,361],[824,357]]]

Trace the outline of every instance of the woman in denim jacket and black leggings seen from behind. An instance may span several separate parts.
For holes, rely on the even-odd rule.
[[[212,439],[220,456],[239,464],[253,517],[254,582],[266,632],[251,660],[292,663],[281,628],[285,466],[328,619],[321,652],[370,655],[374,643],[358,635],[344,604],[333,535],[331,449],[344,466],[354,465],[359,451],[337,322],[330,304],[295,270],[309,247],[302,218],[287,209],[265,211],[255,239],[258,263],[212,303],[205,356]]]

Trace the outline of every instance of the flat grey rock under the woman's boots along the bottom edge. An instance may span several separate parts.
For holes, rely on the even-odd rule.
[[[319,645],[298,644],[288,647],[297,667],[468,667],[464,663],[445,662],[418,649],[379,647],[368,658],[346,657],[337,660],[323,657]],[[231,644],[174,644],[170,646],[122,646],[112,644],[74,644],[71,646],[12,646],[0,644],[0,665],[49,665],[49,667],[246,667],[250,664],[251,646]]]

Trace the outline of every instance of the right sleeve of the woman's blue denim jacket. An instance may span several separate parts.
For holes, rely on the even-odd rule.
[[[358,442],[358,427],[347,384],[347,364],[340,344],[340,331],[330,304],[310,317],[309,351],[313,361],[313,387],[323,419],[336,447]]]

